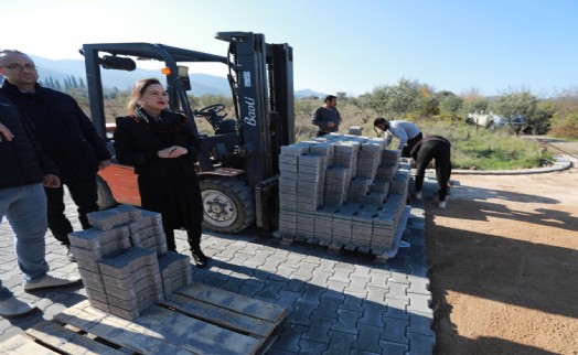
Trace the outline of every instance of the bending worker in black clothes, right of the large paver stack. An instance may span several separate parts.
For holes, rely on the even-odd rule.
[[[431,160],[436,161],[436,179],[438,180],[438,207],[446,208],[446,196],[451,175],[451,143],[441,136],[426,136],[411,150],[411,158],[417,161],[415,197],[421,200],[421,187],[426,168]]]

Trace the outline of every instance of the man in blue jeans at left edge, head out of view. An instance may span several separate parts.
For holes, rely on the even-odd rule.
[[[78,278],[47,275],[45,187],[58,187],[57,168],[42,152],[12,101],[0,94],[0,222],[6,215],[15,238],[24,291],[77,283]],[[18,300],[0,281],[0,316],[24,315],[35,308]]]

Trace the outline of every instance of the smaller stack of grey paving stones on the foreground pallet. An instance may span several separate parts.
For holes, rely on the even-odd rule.
[[[133,320],[192,281],[188,256],[167,251],[161,215],[129,205],[87,215],[68,235],[94,308]]]

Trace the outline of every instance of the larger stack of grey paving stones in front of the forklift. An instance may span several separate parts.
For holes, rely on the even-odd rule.
[[[331,133],[281,147],[279,234],[379,254],[393,247],[410,178],[387,141]],[[407,168],[407,169],[406,169]]]

